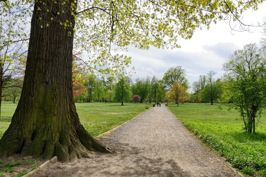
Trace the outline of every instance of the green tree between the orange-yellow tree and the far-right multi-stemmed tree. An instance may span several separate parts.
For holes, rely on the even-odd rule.
[[[216,72],[210,71],[207,74],[207,84],[204,86],[204,89],[201,91],[200,96],[201,100],[210,101],[211,105],[213,102],[221,97],[222,95],[222,83],[221,79],[215,79],[214,75]]]

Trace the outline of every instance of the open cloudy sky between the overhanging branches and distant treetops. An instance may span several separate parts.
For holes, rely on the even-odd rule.
[[[242,22],[257,25],[266,21],[266,2],[259,6],[259,10],[249,10],[243,13]],[[236,24],[237,25],[237,24]],[[131,67],[135,67],[136,74],[131,78],[155,75],[162,79],[170,68],[181,65],[186,70],[186,78],[190,85],[199,79],[199,74],[207,74],[210,70],[217,72],[216,78],[223,75],[222,65],[228,61],[229,55],[249,43],[259,43],[262,28],[250,27],[250,31],[232,31],[229,24],[221,21],[210,29],[197,29],[190,40],[181,39],[180,49],[138,50],[129,47],[126,55],[132,56]]]

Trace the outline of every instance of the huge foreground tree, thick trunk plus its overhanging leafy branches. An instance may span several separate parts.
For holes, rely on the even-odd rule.
[[[0,6],[8,9],[7,2],[0,1]],[[224,17],[238,20],[243,10],[256,9],[262,1],[18,2],[17,7],[34,3],[34,8],[18,12],[21,16],[32,13],[31,33],[21,99],[0,140],[0,156],[49,159],[57,155],[67,161],[91,157],[95,150],[111,152],[91,137],[76,112],[71,77],[74,36],[75,45],[90,54],[91,68],[99,66],[100,72],[117,74],[131,61],[111,50],[112,46],[179,47],[179,36],[189,39],[197,27],[209,27]]]

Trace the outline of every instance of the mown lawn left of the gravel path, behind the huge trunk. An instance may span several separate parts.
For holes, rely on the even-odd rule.
[[[144,112],[145,105],[141,103],[76,103],[77,113],[85,129],[92,135],[98,136],[107,132],[124,122],[131,120],[141,112]],[[7,130],[17,104],[2,102],[0,120],[0,138]]]

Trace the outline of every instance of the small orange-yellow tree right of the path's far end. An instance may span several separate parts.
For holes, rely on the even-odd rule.
[[[184,86],[175,82],[170,91],[166,93],[166,98],[171,102],[177,103],[178,106],[179,102],[187,100],[188,94],[186,93],[186,88]]]

